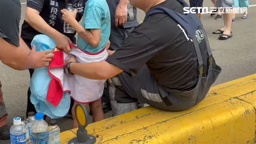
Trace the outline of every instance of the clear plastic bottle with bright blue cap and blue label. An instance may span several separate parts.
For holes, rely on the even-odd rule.
[[[31,126],[33,144],[48,144],[49,133],[48,124],[44,121],[44,114],[36,113],[36,121]]]

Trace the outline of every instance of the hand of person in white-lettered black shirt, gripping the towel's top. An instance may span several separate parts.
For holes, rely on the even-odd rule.
[[[60,48],[65,53],[71,52],[71,48],[69,47],[69,43],[72,43],[72,41],[65,36],[64,34],[59,34],[54,38],[56,42],[56,47]]]

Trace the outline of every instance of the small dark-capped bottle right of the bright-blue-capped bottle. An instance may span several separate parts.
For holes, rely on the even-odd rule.
[[[57,126],[56,120],[50,121],[49,144],[60,144],[60,127]]]

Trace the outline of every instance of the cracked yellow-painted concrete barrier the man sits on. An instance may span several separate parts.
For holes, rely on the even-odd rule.
[[[248,77],[254,79],[256,78],[256,75]],[[245,77],[244,79],[246,78],[247,77]],[[236,85],[236,81],[231,83],[230,86]],[[202,137],[204,137],[204,135],[206,135],[210,131],[212,131],[211,133],[213,135],[211,138],[208,137],[209,141],[211,141],[210,143],[218,143],[217,141],[219,140],[225,140],[226,137],[223,138],[222,136],[225,134],[229,137],[233,137],[233,142],[240,143],[241,140],[246,140],[245,143],[248,143],[249,140],[250,143],[255,140],[254,133],[256,129],[256,87],[253,86],[256,85],[255,83],[246,84],[248,86],[246,90],[244,90],[244,84],[237,85],[239,86],[236,87],[236,90],[240,92],[240,96],[238,97],[230,96],[233,94],[233,91],[229,89],[227,90],[228,92],[225,93],[225,95],[218,94],[213,97],[205,98],[205,100],[203,101],[203,103],[205,102],[205,104],[199,104],[198,106],[195,106],[188,111],[163,112],[157,111],[155,109],[152,109],[152,111],[150,111],[151,108],[147,107],[141,110],[137,110],[136,112],[134,112],[134,114],[136,113],[135,115],[132,114],[133,112],[126,115],[127,117],[133,115],[133,120],[127,120],[124,117],[111,118],[111,120],[106,121],[113,121],[113,123],[102,125],[102,129],[98,127],[99,131],[96,133],[94,133],[95,130],[92,130],[91,132],[93,134],[103,135],[103,139],[100,143],[119,143],[122,140],[127,140],[127,143],[129,141],[130,143],[141,144],[145,143],[146,141],[150,143],[158,143],[159,141],[162,141],[162,143],[179,143],[179,139],[187,137],[186,133],[188,133],[189,131],[191,131],[191,133],[193,132],[194,134],[188,136],[188,138],[190,138],[190,140],[187,141],[188,143],[200,141]],[[221,86],[222,85],[216,87],[221,88]],[[241,90],[243,91],[241,92]],[[212,92],[220,93],[219,91]],[[214,101],[211,99],[214,99]],[[143,110],[145,110],[145,112],[147,113],[143,113]],[[152,122],[145,123],[145,120],[152,120]],[[248,123],[248,125],[244,125],[244,123]],[[252,123],[254,123],[254,126],[252,126]],[[114,132],[115,130],[119,131],[120,129],[125,129],[126,126],[130,126],[133,124],[136,127],[134,130],[128,128],[122,133]],[[106,129],[106,127],[110,127],[110,125],[115,126],[112,127],[111,130]],[[202,129],[200,129],[200,127],[202,127]],[[252,133],[252,131],[253,135],[248,134]],[[116,133],[116,135],[111,134],[107,136],[108,138],[104,138],[104,134],[108,132]],[[247,135],[243,134],[243,136],[240,136],[239,133],[247,133]],[[183,142],[186,143],[185,141]]]

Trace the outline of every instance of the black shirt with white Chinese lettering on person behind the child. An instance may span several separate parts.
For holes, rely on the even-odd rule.
[[[71,0],[73,7],[77,9],[76,20],[80,21],[84,14],[85,2],[87,0]],[[52,26],[55,30],[66,35],[74,44],[76,44],[76,32],[75,33],[64,33],[63,26],[64,21],[62,20],[62,13],[60,10],[65,9],[68,1],[65,0],[28,0],[27,7],[39,11],[39,15],[44,21]],[[30,46],[33,38],[42,34],[37,32],[32,26],[24,21],[21,27],[21,38]]]

